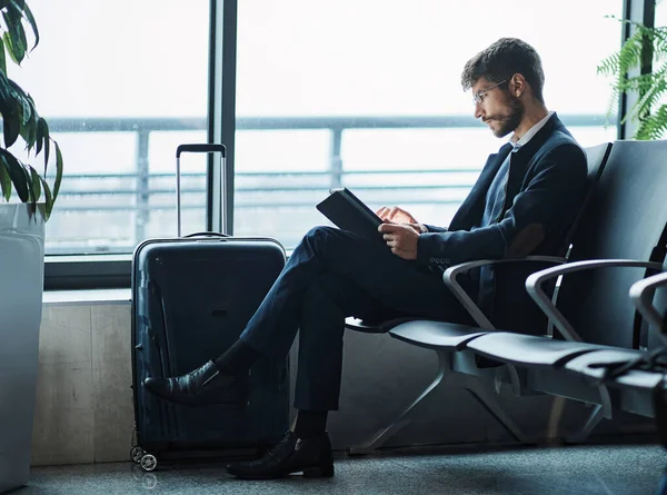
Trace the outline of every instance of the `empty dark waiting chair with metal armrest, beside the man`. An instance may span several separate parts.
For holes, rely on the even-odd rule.
[[[607,384],[591,388],[574,373],[575,363],[586,362],[580,356],[595,352],[646,356],[638,348],[641,318],[627,294],[633,284],[663,270],[665,185],[667,141],[615,142],[573,240],[569,261],[526,281],[528,294],[554,323],[555,338],[498,331],[466,346],[507,364],[519,387],[595,404],[587,424],[571,440],[585,438],[603,418],[610,418],[614,406]],[[555,304],[544,285],[558,277],[563,280]]]

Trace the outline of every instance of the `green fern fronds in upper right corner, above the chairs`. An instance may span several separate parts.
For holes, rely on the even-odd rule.
[[[615,113],[621,95],[634,93],[636,101],[621,116],[621,123],[636,123],[635,139],[660,139],[667,131],[667,105],[664,103],[667,93],[667,27],[651,28],[627,19],[620,21],[629,24],[633,33],[597,68],[598,73],[613,77],[607,116]]]

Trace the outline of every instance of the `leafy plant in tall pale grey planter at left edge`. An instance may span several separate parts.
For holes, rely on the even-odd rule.
[[[23,61],[28,33],[33,49],[39,31],[26,0],[0,0],[0,493],[28,482],[44,221],[62,179],[62,156],[47,121],[37,112],[30,95],[7,76],[8,59],[19,66]],[[21,142],[26,150],[16,151]],[[19,152],[27,158],[17,158]],[[23,161],[38,155],[43,168]],[[56,166],[52,186],[47,181],[49,164]]]

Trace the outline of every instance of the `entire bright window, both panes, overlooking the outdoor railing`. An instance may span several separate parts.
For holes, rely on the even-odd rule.
[[[606,16],[620,17],[621,0],[237,3],[236,235],[291,248],[326,224],[315,205],[339,186],[447,225],[502,145],[459,83],[466,60],[500,37],[538,50],[547,106],[581,145],[616,137],[596,67],[620,44]],[[47,254],[128,254],[175,235],[176,146],[207,139],[210,2],[30,4],[41,42],[12,77],[66,162]],[[183,231],[202,230],[206,164],[182,165]]]

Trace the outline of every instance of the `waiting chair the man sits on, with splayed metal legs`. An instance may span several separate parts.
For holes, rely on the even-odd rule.
[[[600,174],[605,168],[605,164],[609,157],[611,143],[603,143],[596,147],[586,149],[588,159],[588,192],[585,198],[581,211],[586,209],[586,205],[590,200],[595,185],[600,178]],[[581,215],[579,215],[580,217]],[[457,277],[469,269],[478,268],[482,265],[508,265],[515,269],[521,269],[527,276],[531,271],[544,268],[545,266],[551,266],[554,264],[561,264],[566,261],[565,254],[569,246],[569,237],[576,231],[577,219],[568,239],[564,242],[563,255],[560,257],[545,257],[545,256],[532,256],[521,259],[502,259],[502,260],[480,260],[461,264],[449,268],[444,276],[444,281],[449,286],[459,301],[471,315],[474,320],[477,323],[477,327],[457,325],[445,321],[430,321],[415,318],[401,318],[394,319],[385,323],[368,324],[355,318],[348,318],[346,326],[349,329],[365,333],[389,333],[391,337],[405,340],[409,344],[429,348],[436,352],[438,356],[438,370],[432,382],[419,394],[419,396],[412,400],[405,409],[400,410],[395,420],[392,420],[387,427],[380,429],[371,438],[362,442],[360,445],[352,447],[351,453],[366,453],[384,445],[391,436],[398,430],[405,427],[410,422],[410,415],[414,409],[420,404],[438,385],[446,379],[455,379],[457,386],[464,387],[468,390],[472,397],[475,397],[480,405],[490,413],[500,425],[517,440],[527,442],[526,436],[521,433],[518,426],[512,419],[505,413],[502,407],[496,399],[497,395],[497,383],[498,378],[504,375],[505,369],[496,367],[480,368],[477,366],[476,359],[471,355],[462,356],[459,350],[464,349],[466,344],[488,331],[494,331],[495,326],[491,323],[494,315],[490,319],[478,308],[475,301],[468,296],[462,287],[457,283]],[[499,286],[502,286],[502,274],[499,276]],[[529,301],[528,296],[525,296],[524,287],[509,288],[505,287],[507,293],[512,293],[514,298],[504,298],[502,300],[496,300],[496,304],[507,305],[512,304],[515,311],[504,311],[505,315],[517,315],[521,308],[526,307],[526,303]],[[539,313],[538,308],[531,303],[532,315],[526,318],[526,315],[521,315],[519,321],[508,321],[505,318],[500,319],[502,328],[509,328],[516,331],[525,331],[527,326],[525,321],[532,324],[529,329],[535,330],[538,328],[540,334],[544,334],[547,329],[547,320]],[[496,323],[496,321],[494,321]]]

